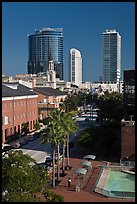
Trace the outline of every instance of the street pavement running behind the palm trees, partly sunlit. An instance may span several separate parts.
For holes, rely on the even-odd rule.
[[[95,123],[96,115],[93,115],[93,121],[85,121],[85,118],[90,119],[90,114],[83,114],[82,116],[76,118],[77,124],[79,125],[80,129],[77,134],[70,135],[70,141],[74,141],[79,136],[81,130],[87,128],[92,123]],[[35,159],[37,163],[45,162],[46,156],[51,154],[51,144],[40,144],[40,138],[37,138],[34,141],[30,141],[27,145],[24,145],[20,149],[23,151],[24,154],[28,154],[33,159]]]

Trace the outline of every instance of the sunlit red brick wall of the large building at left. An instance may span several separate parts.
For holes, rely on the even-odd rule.
[[[4,124],[5,116],[8,117],[6,125]],[[11,136],[14,134],[15,126],[16,131],[18,132],[19,126],[21,132],[22,123],[29,122],[31,131],[34,129],[33,125],[36,120],[38,120],[37,97],[2,101],[2,143],[5,142],[5,129],[6,136]]]

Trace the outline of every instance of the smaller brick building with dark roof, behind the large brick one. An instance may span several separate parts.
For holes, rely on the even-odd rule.
[[[34,87],[33,91],[38,94],[40,119],[47,117],[54,108],[59,108],[67,96],[65,92],[50,87]]]

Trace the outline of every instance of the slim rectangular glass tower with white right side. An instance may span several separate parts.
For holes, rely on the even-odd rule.
[[[121,70],[121,36],[116,30],[103,33],[103,81],[119,84]]]

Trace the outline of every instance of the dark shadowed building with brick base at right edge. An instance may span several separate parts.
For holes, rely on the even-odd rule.
[[[135,70],[124,70],[121,158],[135,154]]]

